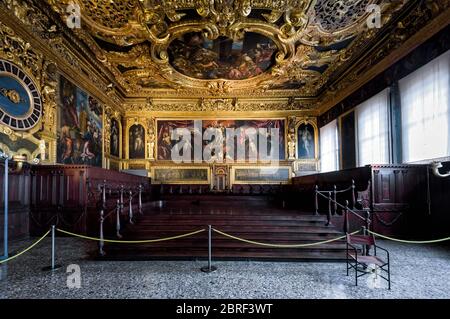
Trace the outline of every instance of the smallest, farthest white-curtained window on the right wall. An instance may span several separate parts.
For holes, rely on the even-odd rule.
[[[331,172],[339,169],[339,148],[337,121],[320,129],[320,167],[321,172]]]

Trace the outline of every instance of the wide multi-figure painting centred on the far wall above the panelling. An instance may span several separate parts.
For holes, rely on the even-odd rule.
[[[258,146],[254,145],[250,139],[245,138],[245,132],[247,129],[256,129],[260,128],[265,129],[267,132],[267,151],[266,154],[273,154],[273,144],[278,144],[278,154],[274,154],[275,160],[284,160],[285,159],[285,120],[275,119],[275,120],[203,120],[201,121],[202,133],[198,132],[194,127],[194,120],[158,120],[157,122],[157,130],[158,130],[158,160],[168,161],[172,160],[172,149],[176,147],[178,141],[171,140],[172,131],[177,128],[187,128],[191,131],[191,140],[189,143],[191,144],[191,157],[194,159],[194,149],[195,147],[201,147],[203,150],[206,145],[217,143],[219,145],[218,149],[221,149],[220,154],[212,154],[212,158],[223,158],[223,160],[227,161],[236,161],[237,158],[237,149],[239,147],[243,147],[245,149],[246,158],[245,160],[249,160],[250,150],[256,149],[258,153]],[[219,130],[222,132],[223,138],[214,138],[212,141],[203,141],[202,136],[206,129]],[[235,152],[234,158],[231,158],[229,150],[227,150],[226,145],[226,129],[234,128],[234,129],[242,129],[241,135],[235,138]],[[278,129],[279,131],[279,141],[275,141],[271,137],[271,129]],[[196,135],[200,135],[200,138],[195,138]],[[220,134],[217,134],[220,136]],[[198,140],[202,141],[202,145],[196,145]],[[178,151],[177,151],[178,152]],[[183,150],[180,149],[179,153],[182,155]],[[258,159],[261,159],[261,154],[258,154]],[[278,156],[277,156],[278,155]]]

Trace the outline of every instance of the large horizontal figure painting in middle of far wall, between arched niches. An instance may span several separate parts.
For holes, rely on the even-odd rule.
[[[199,124],[195,124],[199,123]],[[212,161],[236,161],[250,160],[251,154],[255,154],[258,160],[262,160],[263,155],[270,156],[273,160],[285,159],[285,120],[158,120],[158,160],[172,160],[173,152],[182,156],[185,150],[190,150],[190,159],[194,161],[195,149],[203,154],[206,147],[209,147]],[[184,141],[184,147],[180,147],[180,140],[172,140],[172,132],[177,128],[185,128],[191,132],[190,139]],[[227,145],[227,129],[234,129],[234,147]],[[211,130],[214,136],[210,140],[204,140],[203,136],[206,130]],[[272,136],[274,130],[278,131],[278,140],[276,135]],[[248,138],[251,132],[257,132],[257,139]],[[264,134],[262,136],[261,134]],[[267,141],[262,144],[262,137]],[[189,148],[186,148],[186,143]],[[180,148],[180,149],[177,149]],[[234,150],[229,150],[233,147]],[[267,149],[263,149],[266,147]],[[243,149],[245,158],[238,158],[238,150]],[[262,154],[264,152],[265,154]],[[205,160],[204,158],[202,158]]]

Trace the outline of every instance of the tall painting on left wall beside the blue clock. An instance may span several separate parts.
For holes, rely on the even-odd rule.
[[[58,163],[102,166],[102,106],[61,76]]]

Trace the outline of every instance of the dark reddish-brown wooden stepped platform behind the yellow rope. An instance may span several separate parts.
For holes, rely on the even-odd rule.
[[[155,202],[134,225],[128,225],[123,240],[146,240],[177,236],[207,229],[208,225],[247,240],[270,244],[303,244],[342,236],[326,226],[325,216],[277,207],[265,196],[173,195]],[[342,260],[345,242],[305,248],[257,246],[213,232],[214,259],[252,260]],[[149,244],[106,244],[106,260],[206,259],[208,234]]]

